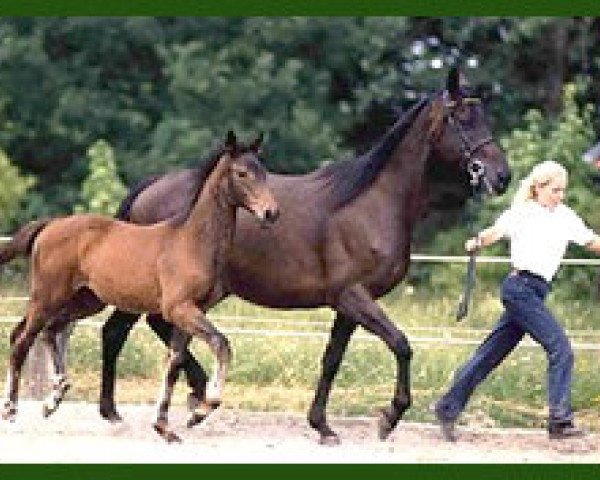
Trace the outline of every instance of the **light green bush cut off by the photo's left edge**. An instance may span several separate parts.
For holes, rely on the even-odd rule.
[[[8,232],[14,226],[25,195],[34,184],[34,177],[22,175],[0,150],[0,231]]]

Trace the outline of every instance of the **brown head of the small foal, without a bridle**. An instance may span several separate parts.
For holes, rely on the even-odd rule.
[[[259,160],[261,143],[262,135],[250,145],[242,145],[229,131],[221,156],[228,158],[225,175],[233,204],[245,208],[263,223],[272,223],[279,217],[279,207],[267,186],[267,171]]]

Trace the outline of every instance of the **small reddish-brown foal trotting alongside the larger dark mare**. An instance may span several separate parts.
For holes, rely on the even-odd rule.
[[[93,214],[71,215],[26,226],[0,251],[10,259],[15,242],[32,245],[31,297],[24,320],[12,335],[8,400],[3,417],[17,411],[20,370],[36,335],[47,327],[46,340],[57,376],[46,414],[58,406],[66,386],[56,332],[73,317],[60,315],[82,295],[91,312],[106,304],[127,312],[159,313],[172,324],[170,354],[154,428],[166,440],[178,440],[168,429],[168,407],[183,354],[192,338],[202,338],[215,355],[214,373],[205,395],[207,407],[221,401],[230,363],[229,342],[206,318],[215,303],[222,265],[233,241],[236,213],[244,207],[261,220],[278,216],[257,157],[258,142],[238,145],[229,132],[223,148],[197,173],[194,197],[178,215],[153,225],[135,225]],[[84,293],[82,293],[82,290]],[[75,300],[74,300],[75,299]]]

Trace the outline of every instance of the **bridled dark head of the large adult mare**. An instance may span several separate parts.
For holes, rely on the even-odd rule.
[[[431,100],[429,133],[430,170],[447,176],[459,172],[466,192],[506,191],[511,177],[506,156],[492,137],[481,100],[457,68],[450,70],[445,90]]]

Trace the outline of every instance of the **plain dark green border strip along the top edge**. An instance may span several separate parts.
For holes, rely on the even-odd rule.
[[[2,0],[1,15],[500,15],[600,14],[598,0]]]

